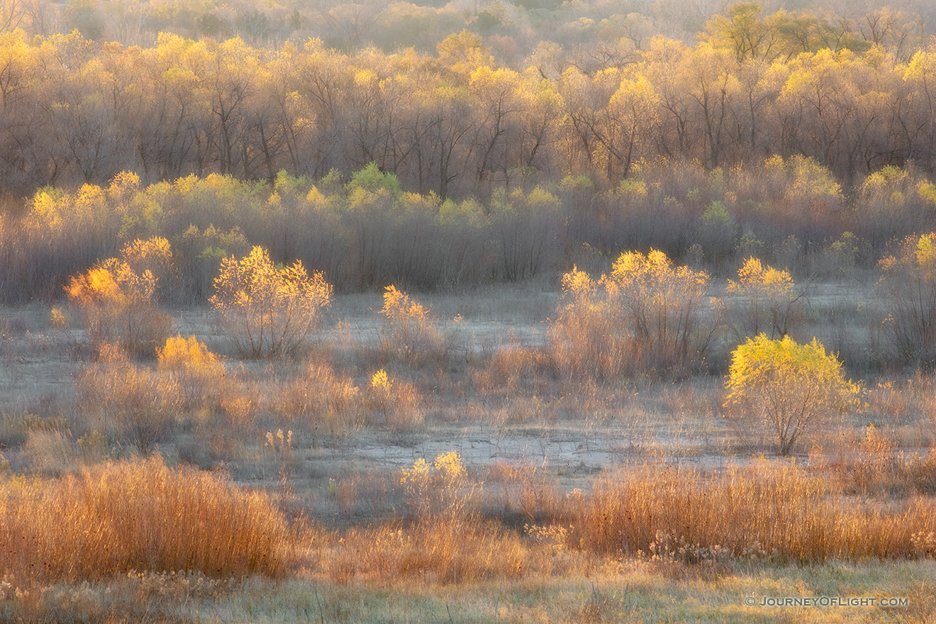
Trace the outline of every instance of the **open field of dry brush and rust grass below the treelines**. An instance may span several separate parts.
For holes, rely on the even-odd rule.
[[[878,348],[873,279],[802,292],[797,335]],[[0,622],[936,617],[931,376],[849,370],[860,407],[779,457],[724,417],[727,333],[684,374],[573,374],[561,295],[413,296],[405,323],[339,296],[262,360],[205,309],[150,358],[4,309]]]

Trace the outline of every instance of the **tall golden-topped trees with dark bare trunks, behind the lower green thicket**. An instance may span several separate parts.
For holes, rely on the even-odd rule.
[[[713,169],[804,155],[846,189],[887,165],[930,174],[936,48],[831,28],[742,4],[693,46],[623,40],[597,68],[534,55],[521,71],[468,31],[431,56],[15,31],[0,41],[0,180],[22,196],[122,170],[272,181],[374,162],[420,194],[487,201],[567,173],[613,185],[660,156]]]

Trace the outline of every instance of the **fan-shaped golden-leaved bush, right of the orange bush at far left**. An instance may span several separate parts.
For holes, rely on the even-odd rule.
[[[222,260],[214,290],[212,307],[245,357],[295,354],[318,326],[332,295],[322,273],[309,275],[299,261],[277,267],[262,247],[241,260]]]

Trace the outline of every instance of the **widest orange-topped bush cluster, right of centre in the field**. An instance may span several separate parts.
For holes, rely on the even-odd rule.
[[[708,283],[708,273],[674,267],[655,250],[621,254],[598,280],[573,268],[549,333],[556,367],[608,379],[699,362],[714,333],[701,323]]]

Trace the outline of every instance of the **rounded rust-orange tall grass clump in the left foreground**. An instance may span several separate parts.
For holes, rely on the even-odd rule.
[[[283,570],[285,520],[266,495],[161,457],[51,481],[3,478],[0,518],[0,577],[16,583]]]

